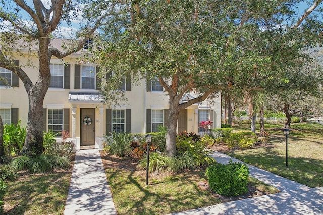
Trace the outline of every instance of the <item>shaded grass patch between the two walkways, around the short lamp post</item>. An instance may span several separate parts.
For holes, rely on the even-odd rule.
[[[225,198],[208,189],[205,169],[182,174],[149,175],[145,185],[145,171],[129,168],[131,162],[117,160],[119,167],[112,165],[111,157],[101,154],[106,176],[111,187],[118,214],[168,214],[185,211],[226,201],[253,197],[256,193],[276,193],[277,189],[249,179],[253,193],[237,198]],[[122,164],[123,165],[120,165]]]

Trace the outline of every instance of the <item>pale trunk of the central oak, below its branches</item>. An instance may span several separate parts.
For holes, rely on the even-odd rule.
[[[176,129],[180,109],[176,99],[172,99],[171,97],[166,133],[166,154],[169,157],[174,157],[176,155]]]

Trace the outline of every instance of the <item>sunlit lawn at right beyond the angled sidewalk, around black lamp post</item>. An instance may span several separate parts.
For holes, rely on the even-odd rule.
[[[288,168],[285,167],[285,136],[283,125],[266,124],[270,147],[233,151],[227,154],[309,187],[323,186],[323,125],[294,123],[288,137]],[[233,127],[249,130],[250,125]]]

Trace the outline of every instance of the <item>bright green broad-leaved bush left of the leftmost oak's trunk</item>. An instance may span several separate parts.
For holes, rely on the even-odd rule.
[[[4,125],[3,143],[7,155],[17,155],[21,150],[26,138],[26,128],[17,124]]]

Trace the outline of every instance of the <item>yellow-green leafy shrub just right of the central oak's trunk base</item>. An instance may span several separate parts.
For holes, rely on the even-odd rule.
[[[194,142],[192,137],[177,138],[176,148],[179,155],[191,156],[196,166],[210,165],[215,162],[210,156],[212,152],[206,149],[201,141]]]

